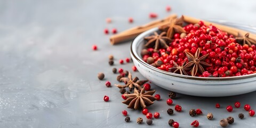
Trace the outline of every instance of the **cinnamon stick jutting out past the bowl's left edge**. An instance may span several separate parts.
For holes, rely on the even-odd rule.
[[[170,19],[175,19],[175,18],[177,18],[177,15],[173,14],[173,15],[170,15],[169,17],[164,18],[163,20],[156,20],[156,21],[147,23],[146,25],[143,25],[143,26],[138,26],[138,27],[131,28],[129,30],[125,30],[122,33],[111,36],[110,43],[114,45],[120,42],[129,41],[146,30],[149,30],[151,28],[155,28],[158,26],[162,26],[162,25],[167,25]]]

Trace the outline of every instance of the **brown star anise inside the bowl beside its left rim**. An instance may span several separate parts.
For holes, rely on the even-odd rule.
[[[152,36],[147,36],[145,37],[145,39],[148,40],[148,42],[145,44],[146,47],[148,46],[154,46],[155,45],[155,49],[159,49],[159,45],[161,45],[164,48],[169,47],[166,44],[166,41],[171,41],[171,39],[167,36],[164,36],[166,33],[162,32],[160,35],[157,34],[156,32],[154,32],[154,35]]]

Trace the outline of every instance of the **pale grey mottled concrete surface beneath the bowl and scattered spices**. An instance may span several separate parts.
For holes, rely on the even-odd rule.
[[[171,12],[165,6],[172,7]],[[139,110],[131,110],[121,103],[117,87],[106,87],[105,82],[117,84],[113,67],[132,71],[132,63],[119,65],[119,59],[130,57],[130,42],[112,46],[103,29],[118,31],[143,25],[150,12],[158,19],[169,14],[186,14],[201,19],[220,19],[243,25],[256,26],[255,1],[0,1],[0,127],[149,127]],[[134,23],[128,23],[129,17]],[[111,18],[112,23],[105,19]],[[97,51],[91,46],[98,45]],[[113,54],[115,65],[108,65]],[[105,73],[99,81],[97,74]],[[143,77],[135,72],[133,76]],[[235,123],[228,127],[256,127],[255,116],[249,117],[243,108],[228,113],[226,106],[240,101],[256,109],[256,92],[233,97],[205,98],[177,94],[174,105],[182,112],[166,113],[169,91],[151,85],[162,100],[148,109],[158,111],[161,118],[153,119],[150,127],[170,127],[174,119],[180,127],[191,127],[197,119],[200,127],[220,127],[221,118],[233,116]],[[110,97],[109,102],[103,96]],[[215,108],[219,102],[221,108]],[[190,117],[190,109],[201,108],[203,115]],[[124,122],[122,110],[127,110],[130,123]],[[213,113],[209,121],[207,113]],[[238,114],[244,113],[245,119]],[[139,125],[136,119],[145,123]]]

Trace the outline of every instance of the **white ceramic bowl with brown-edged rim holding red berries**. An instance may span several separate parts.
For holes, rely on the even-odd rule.
[[[235,25],[239,27],[239,25]],[[246,29],[246,26],[239,28]],[[250,29],[250,27],[248,27]],[[256,91],[256,74],[234,77],[194,77],[174,74],[150,66],[141,59],[144,37],[153,34],[153,28],[140,34],[131,45],[131,57],[139,72],[150,82],[174,92],[202,97],[223,97]],[[250,30],[253,31],[253,30]]]

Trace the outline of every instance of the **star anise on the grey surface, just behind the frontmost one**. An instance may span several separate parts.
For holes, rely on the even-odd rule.
[[[126,77],[122,77],[120,78],[120,81],[123,81],[125,83],[125,85],[117,85],[115,84],[119,89],[121,89],[122,87],[129,87],[129,90],[132,91],[132,89],[135,87],[138,90],[141,90],[142,87],[141,85],[145,84],[146,82],[148,82],[148,80],[145,81],[138,81],[138,77],[132,78],[131,73],[129,72],[128,74],[128,78]]]

